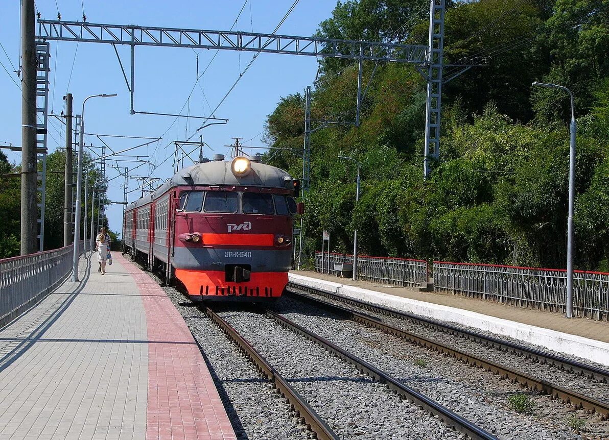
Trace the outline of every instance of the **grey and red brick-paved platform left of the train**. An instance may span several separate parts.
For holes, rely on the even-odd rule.
[[[0,329],[0,439],[236,439],[199,347],[120,253]]]

